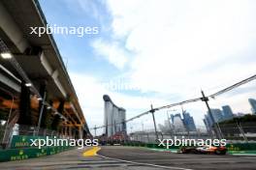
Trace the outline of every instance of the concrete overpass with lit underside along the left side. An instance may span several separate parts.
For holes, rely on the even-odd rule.
[[[0,115],[10,125],[90,135],[80,102],[37,0],[0,1]]]

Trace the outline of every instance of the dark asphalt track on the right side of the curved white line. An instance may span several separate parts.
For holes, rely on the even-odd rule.
[[[256,169],[256,156],[185,155],[120,146],[102,147],[98,154],[128,161],[173,167],[173,169]]]

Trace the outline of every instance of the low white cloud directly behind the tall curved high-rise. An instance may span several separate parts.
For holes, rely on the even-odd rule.
[[[98,127],[103,125],[103,95],[105,94],[108,94],[117,106],[126,109],[127,119],[149,110],[151,103],[154,103],[155,106],[168,103],[167,100],[154,97],[129,96],[112,92],[106,89],[104,83],[99,79],[84,73],[71,72],[70,76],[78,92],[77,95],[80,99],[83,114],[90,128],[93,128],[95,125]]]

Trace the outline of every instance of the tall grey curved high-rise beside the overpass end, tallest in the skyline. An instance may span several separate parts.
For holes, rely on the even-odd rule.
[[[108,95],[104,95],[104,124],[106,126],[105,133],[112,136],[116,132],[126,133],[125,109],[117,107]]]

